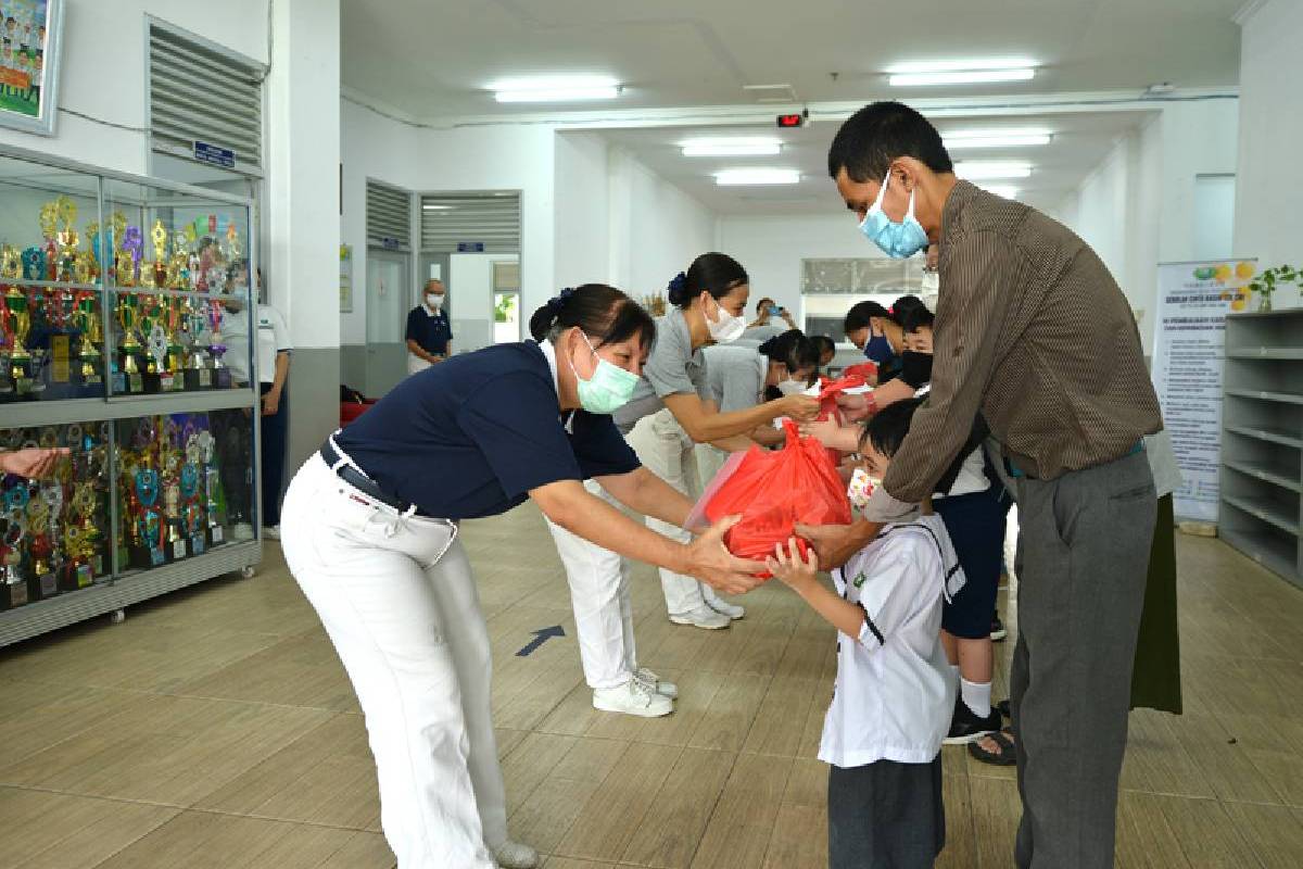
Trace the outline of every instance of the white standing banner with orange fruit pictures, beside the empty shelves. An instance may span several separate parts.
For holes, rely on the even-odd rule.
[[[1217,521],[1226,314],[1244,310],[1255,259],[1162,263],[1153,384],[1183,482],[1177,516]]]

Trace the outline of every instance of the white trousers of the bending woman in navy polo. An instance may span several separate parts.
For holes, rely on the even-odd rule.
[[[313,456],[289,483],[280,530],[366,715],[399,868],[494,869],[507,803],[493,667],[456,526],[378,504]]]

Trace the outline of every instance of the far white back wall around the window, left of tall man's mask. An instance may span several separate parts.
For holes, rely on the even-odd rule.
[[[719,250],[734,257],[751,275],[751,297],[767,296],[797,314],[801,310],[801,259],[882,257],[860,232],[855,215],[830,203],[827,215],[791,218],[726,216],[719,220]],[[748,305],[748,318],[754,317]]]

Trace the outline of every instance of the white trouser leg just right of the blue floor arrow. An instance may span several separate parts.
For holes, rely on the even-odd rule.
[[[619,507],[592,479],[584,482],[584,489]],[[556,541],[556,552],[566,564],[584,680],[589,688],[623,685],[637,668],[629,564],[615,552],[572,534],[551,520],[547,520],[547,528]]]

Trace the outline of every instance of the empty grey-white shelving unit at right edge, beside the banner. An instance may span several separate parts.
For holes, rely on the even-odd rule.
[[[1303,585],[1303,309],[1226,318],[1222,539]]]

